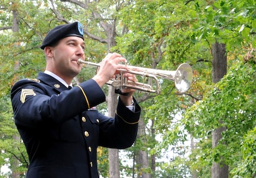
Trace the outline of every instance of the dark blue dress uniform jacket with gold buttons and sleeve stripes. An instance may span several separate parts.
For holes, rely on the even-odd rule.
[[[40,72],[37,80],[18,81],[11,90],[15,125],[29,155],[27,177],[99,177],[98,145],[127,148],[135,141],[140,107],[118,101],[115,118],[91,109],[105,101],[94,80],[68,90]]]

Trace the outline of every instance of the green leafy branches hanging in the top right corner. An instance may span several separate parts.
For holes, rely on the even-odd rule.
[[[198,24],[193,24],[199,39],[226,43],[227,50],[242,46],[243,42],[255,47],[255,2],[254,1],[214,1],[197,5],[201,13]]]

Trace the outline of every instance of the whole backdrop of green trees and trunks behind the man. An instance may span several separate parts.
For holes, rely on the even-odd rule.
[[[98,149],[102,177],[255,177],[255,7],[252,0],[2,0],[0,165],[8,171],[1,169],[1,176],[24,177],[29,165],[10,88],[44,71],[39,46],[51,28],[80,21],[89,61],[118,52],[130,65],[175,71],[187,62],[193,68],[186,93],[160,79],[160,95],[135,94],[142,106],[138,138],[115,150],[115,161],[108,162],[111,151]],[[94,74],[83,69],[74,84]],[[107,86],[104,91],[113,94]]]

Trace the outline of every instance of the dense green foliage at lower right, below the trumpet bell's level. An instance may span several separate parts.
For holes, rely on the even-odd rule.
[[[216,84],[214,90],[186,112],[185,120],[190,120],[190,122],[185,122],[186,128],[197,123],[196,129],[194,126],[188,131],[202,141],[209,136],[205,131],[226,126],[227,130],[223,132],[223,139],[221,139],[225,145],[220,144],[212,150],[213,160],[211,161],[218,162],[220,161],[218,158],[223,157],[223,160],[227,161],[229,165],[239,163],[241,144],[245,144],[243,136],[254,127],[256,121],[255,69],[255,63],[252,65],[242,62],[234,64],[223,80]],[[223,120],[221,125],[220,119]],[[254,148],[253,145],[249,145],[245,155],[248,155],[249,152],[254,154],[255,151],[248,149],[249,147]],[[250,164],[251,159],[254,158],[246,158],[245,162],[249,161],[246,164]],[[251,168],[248,167],[248,169]]]

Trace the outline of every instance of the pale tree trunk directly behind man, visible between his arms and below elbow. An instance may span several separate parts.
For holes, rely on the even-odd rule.
[[[115,116],[115,109],[117,108],[117,94],[114,93],[114,87],[108,87],[108,116]],[[120,178],[119,156],[117,149],[108,149],[109,173],[110,178]]]

